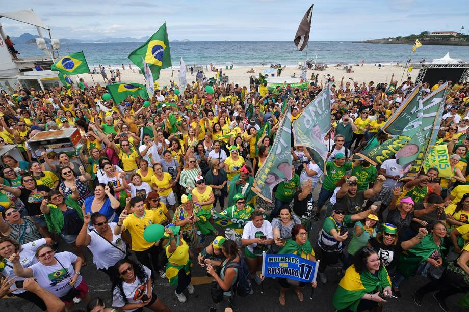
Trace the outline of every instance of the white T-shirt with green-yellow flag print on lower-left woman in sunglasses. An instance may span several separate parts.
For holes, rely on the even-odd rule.
[[[38,262],[33,264],[31,269],[33,270],[33,277],[36,278],[38,284],[60,298],[65,296],[70,289],[72,289],[69,282],[75,275],[73,262],[75,262],[78,257],[71,252],[64,251],[56,253],[55,258],[57,259],[57,263],[54,265],[45,266]],[[62,265],[60,265],[59,261]],[[79,275],[75,286],[79,286],[82,279],[82,275]]]

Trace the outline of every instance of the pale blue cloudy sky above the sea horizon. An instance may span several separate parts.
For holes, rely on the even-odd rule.
[[[39,5],[40,3],[40,5]],[[71,1],[24,0],[3,12],[32,8],[53,38],[100,39],[149,36],[167,21],[169,39],[191,41],[293,40],[312,2],[235,1]],[[434,3],[434,4],[430,4]],[[466,0],[317,0],[310,40],[361,40],[422,31],[469,30]],[[36,34],[35,27],[1,18],[6,34]]]

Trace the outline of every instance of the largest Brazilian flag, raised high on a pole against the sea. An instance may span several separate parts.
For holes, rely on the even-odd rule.
[[[158,32],[154,33],[147,42],[128,55],[128,58],[142,71],[142,58],[151,69],[153,79],[160,78],[160,70],[171,66],[171,53],[169,51],[168,32],[164,23]]]

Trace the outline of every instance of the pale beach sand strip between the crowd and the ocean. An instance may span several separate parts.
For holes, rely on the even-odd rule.
[[[329,66],[326,70],[323,71],[313,71],[313,70],[308,70],[306,73],[307,79],[311,78],[311,74],[314,73],[315,75],[318,73],[318,83],[323,81],[323,83],[327,80],[325,76],[327,74],[330,74],[331,76],[334,77],[335,83],[337,87],[339,86],[341,82],[341,78],[344,77],[344,84],[348,81],[349,78],[352,78],[354,81],[358,81],[359,84],[370,81],[374,81],[374,85],[380,83],[380,82],[387,82],[389,83],[391,76],[394,74],[394,79],[398,80],[399,83],[401,82],[401,76],[403,72],[403,67],[402,66],[392,66],[392,65],[385,65],[385,66],[374,66],[374,65],[364,65],[364,66],[352,66],[352,70],[354,73],[346,73],[345,70],[343,70],[344,66],[341,65],[340,67],[334,67],[334,66]],[[134,66],[132,67],[134,68]],[[251,68],[254,69],[255,73],[247,73]],[[233,69],[224,69],[223,68],[223,73],[229,77],[229,82],[233,83],[238,83],[240,86],[249,86],[249,77],[251,75],[254,75],[256,77],[259,76],[259,73],[264,74],[264,70],[269,68],[268,66],[253,66],[253,67],[237,67],[235,64],[235,67]],[[144,76],[143,74],[138,73],[138,68],[135,70],[135,73],[133,73],[131,70],[128,69],[128,65],[125,66],[125,70],[122,71],[122,68],[119,68],[121,71],[121,82],[136,82],[136,83],[142,83],[144,84]],[[110,78],[109,71],[106,71],[108,74],[108,78]],[[204,71],[205,76],[207,78],[211,78],[215,76],[215,72],[209,71]],[[275,75],[277,73],[277,70],[275,70]],[[281,76],[282,77],[291,77],[293,74],[296,74],[296,77],[299,77],[301,75],[301,69],[295,66],[286,66],[286,68],[282,71]],[[418,71],[414,71],[411,73],[412,80],[415,79]],[[178,68],[173,67],[173,74],[174,74],[174,80],[179,82],[179,79],[177,78],[178,75]],[[192,83],[192,81],[195,81],[195,74],[194,76],[191,76],[191,73],[188,71],[186,73],[186,79],[189,84]],[[91,79],[90,75],[80,75],[81,78],[84,78],[87,83],[93,84],[93,81]],[[100,83],[101,86],[103,85],[103,79],[100,74],[94,74],[93,75],[94,81],[96,83]],[[407,72],[404,75],[403,80],[407,79]],[[169,84],[169,81],[172,80],[171,77],[171,68],[166,68],[161,70],[160,72],[160,78],[157,80],[160,83],[160,88],[163,86],[167,86]]]

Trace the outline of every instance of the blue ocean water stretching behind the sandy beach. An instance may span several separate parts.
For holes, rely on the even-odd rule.
[[[90,67],[105,66],[126,67],[130,63],[129,53],[142,45],[142,42],[116,43],[63,43],[60,55],[83,50]],[[44,53],[36,45],[17,44],[21,56],[39,56]],[[310,41],[308,59],[315,59],[319,64],[357,64],[362,59],[366,63],[405,63],[412,45],[408,44],[371,44],[352,41]],[[209,64],[224,66],[233,61],[237,66],[259,66],[264,62],[282,65],[297,65],[304,62],[306,49],[299,52],[293,41],[191,41],[171,42],[172,64],[179,66],[182,57],[186,64]],[[469,47],[424,45],[411,53],[412,62],[442,58],[449,52],[453,59],[469,62]]]

